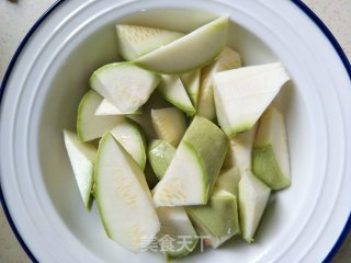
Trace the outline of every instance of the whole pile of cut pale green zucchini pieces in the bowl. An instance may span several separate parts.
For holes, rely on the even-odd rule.
[[[176,259],[234,236],[253,242],[271,193],[291,185],[272,103],[284,67],[242,66],[226,46],[228,16],[188,34],[116,33],[126,61],[92,72],[77,134],[64,130],[82,204],[95,202],[107,237],[135,253]]]

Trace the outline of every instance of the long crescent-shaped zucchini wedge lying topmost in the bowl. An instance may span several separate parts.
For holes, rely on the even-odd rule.
[[[135,60],[135,64],[161,73],[182,73],[205,66],[227,43],[228,16],[222,16],[188,35]]]

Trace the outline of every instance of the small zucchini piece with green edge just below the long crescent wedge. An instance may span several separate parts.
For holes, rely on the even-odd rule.
[[[165,100],[172,103],[179,110],[190,116],[195,114],[195,108],[193,107],[185,88],[178,76],[162,75],[157,89]]]

